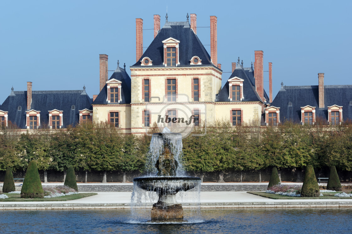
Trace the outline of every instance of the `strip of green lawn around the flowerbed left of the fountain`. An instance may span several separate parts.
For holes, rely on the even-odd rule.
[[[79,193],[79,194],[72,194],[62,197],[50,197],[50,198],[21,198],[20,194],[7,194],[8,198],[0,199],[0,202],[61,202],[61,201],[70,201],[76,200],[83,197],[89,197],[93,195],[98,195],[95,192],[87,192],[87,193]]]

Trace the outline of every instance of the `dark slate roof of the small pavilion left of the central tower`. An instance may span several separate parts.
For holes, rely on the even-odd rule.
[[[125,69],[120,68],[119,66],[117,69],[114,71],[114,73],[111,75],[109,80],[111,79],[116,79],[122,82],[121,84],[121,101],[120,104],[130,104],[131,103],[131,78],[128,76],[127,72]],[[103,87],[103,89],[100,91],[98,96],[95,98],[94,102],[92,105],[101,105],[101,104],[108,104],[106,101],[107,99],[107,84]]]

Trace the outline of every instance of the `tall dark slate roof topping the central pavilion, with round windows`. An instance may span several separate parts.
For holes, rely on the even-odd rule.
[[[179,59],[178,66],[195,66],[190,65],[190,60],[193,56],[198,56],[202,60],[201,65],[214,65],[210,62],[210,55],[200,42],[197,35],[190,29],[189,22],[168,22],[166,21],[163,28],[159,31],[152,43],[148,46],[138,62],[131,67],[139,67],[140,60],[144,57],[149,57],[152,61],[152,66],[165,66],[164,61],[164,44],[163,40],[174,38],[180,41],[179,44]],[[215,67],[215,66],[214,66]]]

